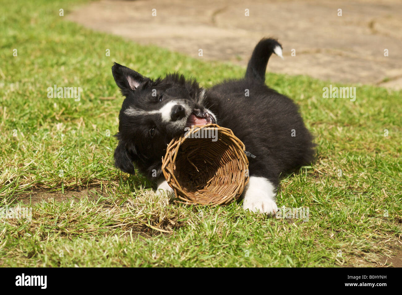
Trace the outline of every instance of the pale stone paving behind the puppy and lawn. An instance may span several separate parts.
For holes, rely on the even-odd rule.
[[[400,0],[101,0],[67,17],[141,44],[244,66],[258,40],[272,36],[285,60],[273,57],[268,71],[402,89]]]

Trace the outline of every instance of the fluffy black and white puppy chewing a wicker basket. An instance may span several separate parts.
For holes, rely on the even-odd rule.
[[[119,114],[115,166],[134,174],[135,163],[149,178],[156,173],[158,191],[172,192],[161,171],[167,144],[186,127],[217,123],[232,129],[246,151],[256,156],[249,158],[250,180],[243,192],[243,208],[275,214],[279,176],[311,163],[314,144],[298,107],[265,85],[272,53],[282,57],[281,45],[274,39],[261,40],[243,79],[210,89],[178,73],[152,80],[115,63],[113,77],[125,96]]]

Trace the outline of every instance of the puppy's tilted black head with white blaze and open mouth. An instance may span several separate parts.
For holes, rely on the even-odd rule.
[[[115,63],[113,77],[125,96],[119,114],[115,166],[134,174],[133,162],[148,177],[161,174],[162,157],[174,136],[191,125],[215,123],[204,106],[205,90],[193,79],[168,74],[152,80]]]

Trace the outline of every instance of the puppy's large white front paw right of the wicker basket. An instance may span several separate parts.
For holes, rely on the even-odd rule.
[[[264,177],[251,176],[244,189],[243,209],[273,215],[278,211],[275,187]]]

